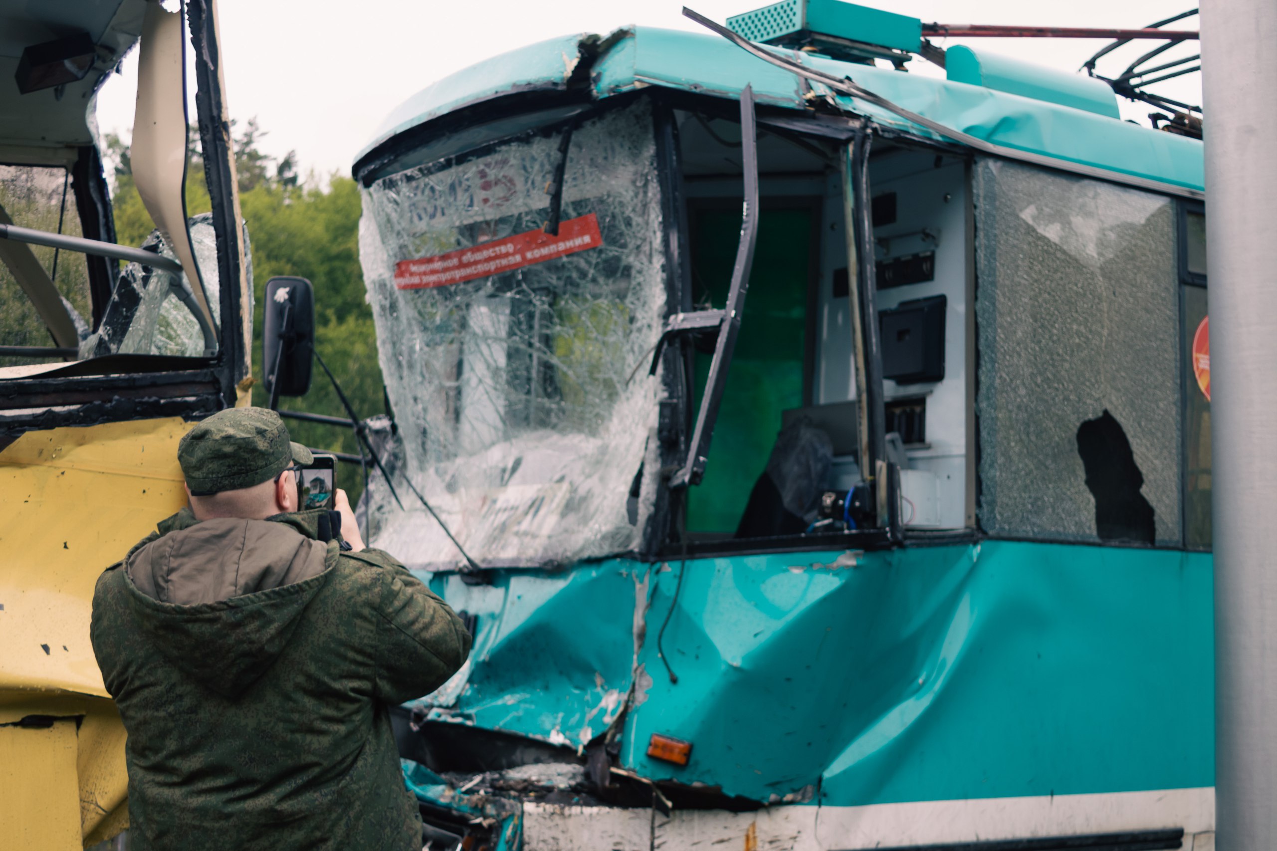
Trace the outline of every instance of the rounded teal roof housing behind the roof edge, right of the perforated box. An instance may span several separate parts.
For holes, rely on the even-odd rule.
[[[976,52],[965,45],[954,45],[945,51],[945,74],[954,83],[983,86],[1096,115],[1121,118],[1117,96],[1103,80],[1066,74],[987,51]]]

